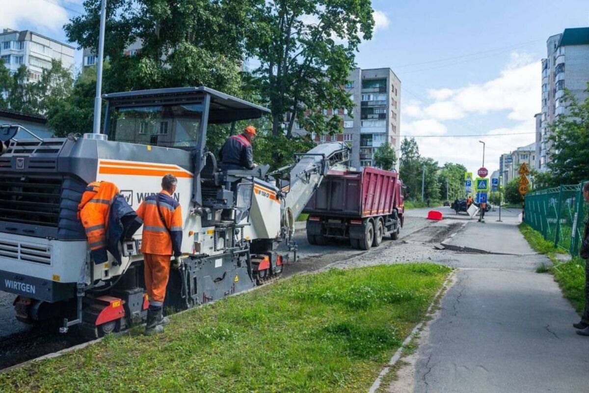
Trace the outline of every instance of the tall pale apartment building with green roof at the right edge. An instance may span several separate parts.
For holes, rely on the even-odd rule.
[[[587,98],[589,81],[589,27],[564,29],[547,41],[547,57],[542,59],[542,113],[540,117],[540,158],[538,170],[548,169],[552,142],[548,140],[559,115],[566,114],[562,100],[567,88],[579,101]],[[538,134],[538,131],[537,131]]]

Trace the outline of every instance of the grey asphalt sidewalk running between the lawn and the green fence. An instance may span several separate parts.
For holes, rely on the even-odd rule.
[[[481,244],[489,252],[455,253],[456,283],[439,317],[424,332],[415,364],[415,392],[587,391],[589,338],[571,326],[579,317],[532,250],[514,212],[468,222],[454,246]],[[389,389],[389,391],[393,391]],[[397,390],[398,391],[398,390]]]

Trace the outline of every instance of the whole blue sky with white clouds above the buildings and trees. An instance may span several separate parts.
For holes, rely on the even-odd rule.
[[[65,39],[82,0],[0,0],[0,28]],[[587,0],[373,0],[377,28],[360,46],[362,68],[391,67],[401,79],[401,134],[440,164],[498,169],[499,155],[534,141],[540,59],[549,35],[589,26]],[[31,10],[35,10],[31,12]],[[81,54],[77,54],[81,62]],[[459,134],[509,134],[472,138]]]

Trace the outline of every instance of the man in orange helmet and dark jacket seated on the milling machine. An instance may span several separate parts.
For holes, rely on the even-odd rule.
[[[256,136],[256,128],[247,126],[240,135],[232,135],[219,151],[221,169],[254,169],[252,139]]]

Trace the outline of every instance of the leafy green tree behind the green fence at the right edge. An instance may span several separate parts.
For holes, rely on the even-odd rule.
[[[586,91],[589,93],[589,82]],[[565,89],[563,100],[568,114],[557,117],[549,137],[553,143],[548,163],[552,185],[589,179],[589,97],[580,103]]]

